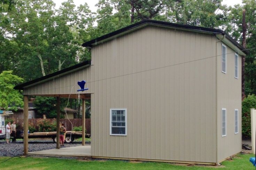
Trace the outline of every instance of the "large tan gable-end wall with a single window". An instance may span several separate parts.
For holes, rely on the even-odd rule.
[[[215,46],[150,26],[93,47],[92,156],[216,162]],[[109,135],[110,108],[127,136]]]

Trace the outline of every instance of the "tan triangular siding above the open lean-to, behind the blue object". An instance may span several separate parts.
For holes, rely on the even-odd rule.
[[[84,92],[77,92],[80,87],[77,85],[78,81],[86,81],[85,87],[89,90]],[[34,86],[25,88],[23,90],[23,95],[54,95],[54,94],[82,94],[91,93],[93,91],[91,82],[91,68],[85,67],[81,70],[62,75],[58,78],[36,84]],[[73,87],[73,85],[76,85]],[[73,87],[73,89],[72,89]],[[72,89],[72,91],[71,91]]]

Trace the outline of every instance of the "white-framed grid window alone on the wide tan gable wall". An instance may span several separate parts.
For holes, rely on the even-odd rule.
[[[127,109],[110,109],[110,135],[127,135]]]

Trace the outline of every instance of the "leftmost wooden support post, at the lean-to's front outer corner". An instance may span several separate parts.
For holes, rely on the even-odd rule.
[[[23,119],[24,119],[24,137],[23,137],[23,147],[24,147],[24,155],[26,155],[29,151],[29,96],[24,95],[24,110],[23,110]]]

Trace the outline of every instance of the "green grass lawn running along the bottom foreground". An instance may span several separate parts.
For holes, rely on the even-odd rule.
[[[232,161],[224,161],[220,170],[255,170],[249,158],[253,154],[239,155]],[[0,157],[0,162],[9,157]],[[1,170],[216,170],[216,167],[194,165],[184,166],[171,163],[127,161],[84,161],[76,159],[59,159],[46,157],[14,157],[0,163]]]

